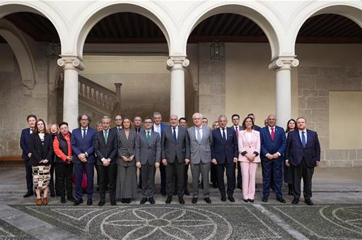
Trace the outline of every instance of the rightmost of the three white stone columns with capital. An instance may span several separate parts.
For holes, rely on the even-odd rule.
[[[295,56],[279,56],[269,64],[276,72],[276,119],[279,126],[285,126],[291,119],[291,68],[299,65]]]

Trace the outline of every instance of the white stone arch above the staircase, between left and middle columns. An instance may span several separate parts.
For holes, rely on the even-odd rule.
[[[83,23],[81,23],[81,27],[76,32],[76,53],[78,56],[83,56],[83,47],[86,42],[86,37],[91,29],[103,18],[112,15],[113,13],[120,12],[130,12],[130,13],[138,13],[146,18],[149,18],[158,25],[158,28],[163,32],[166,41],[168,42],[168,49],[170,49],[170,30],[167,28],[165,21],[162,20],[158,11],[152,11],[148,6],[142,5],[142,2],[134,2],[132,4],[126,3],[117,3],[117,4],[109,4],[105,6],[98,6],[98,8],[94,8],[94,11],[91,11],[88,16],[86,16]],[[149,5],[149,4],[148,4]],[[162,9],[160,9],[162,11]]]

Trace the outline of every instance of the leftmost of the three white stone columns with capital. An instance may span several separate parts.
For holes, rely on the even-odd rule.
[[[64,68],[63,120],[71,131],[78,128],[78,72],[84,69],[84,65],[78,56],[62,56],[58,65]]]

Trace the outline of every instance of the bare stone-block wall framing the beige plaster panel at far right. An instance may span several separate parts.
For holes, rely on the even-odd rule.
[[[356,90],[362,90],[362,68],[298,67],[298,113],[308,119],[308,128],[318,133],[324,167],[362,166],[362,146],[354,150],[329,149],[329,91]]]

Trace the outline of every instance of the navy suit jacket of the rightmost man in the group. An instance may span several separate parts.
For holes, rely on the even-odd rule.
[[[307,129],[307,144],[303,148],[298,129],[288,133],[286,160],[292,166],[298,166],[303,158],[308,167],[315,167],[320,161],[320,141],[315,131]]]

